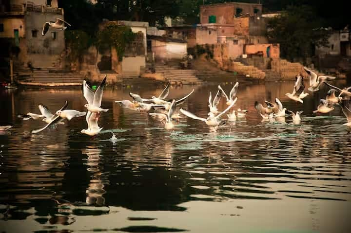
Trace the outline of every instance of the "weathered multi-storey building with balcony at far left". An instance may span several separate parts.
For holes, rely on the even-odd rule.
[[[56,18],[64,19],[58,0],[0,0],[0,40],[3,48],[11,48],[15,68],[26,68],[28,62],[38,68],[59,65],[64,31],[50,28],[41,36],[44,22]],[[10,56],[6,52],[1,56]]]

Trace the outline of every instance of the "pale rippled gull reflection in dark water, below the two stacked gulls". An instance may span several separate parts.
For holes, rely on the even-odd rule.
[[[105,198],[102,195],[106,193],[106,190],[104,190],[103,174],[99,168],[100,153],[101,149],[99,148],[82,150],[82,154],[88,156],[86,165],[89,167],[87,170],[92,173],[89,187],[85,191],[87,195],[85,202],[88,205],[103,206],[105,204]]]

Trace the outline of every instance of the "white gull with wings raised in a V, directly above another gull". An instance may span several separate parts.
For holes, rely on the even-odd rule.
[[[103,89],[106,85],[106,77],[107,75],[105,75],[104,79],[102,80],[100,86],[98,86],[98,89],[95,91],[95,93],[91,85],[85,79],[83,81],[83,95],[86,101],[88,102],[88,104],[85,104],[84,107],[88,108],[88,110],[91,112],[100,113],[107,112],[109,110],[100,108]]]

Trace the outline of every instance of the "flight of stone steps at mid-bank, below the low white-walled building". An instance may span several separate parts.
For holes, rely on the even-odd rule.
[[[155,64],[155,70],[162,73],[167,80],[171,80],[175,84],[200,84],[201,80],[196,77],[194,70],[182,70],[176,66],[167,66]]]

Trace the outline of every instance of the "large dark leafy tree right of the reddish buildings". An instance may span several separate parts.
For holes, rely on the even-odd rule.
[[[282,57],[309,57],[315,46],[328,45],[330,31],[321,27],[322,21],[312,7],[289,6],[281,16],[268,22],[270,42],[280,44]]]

